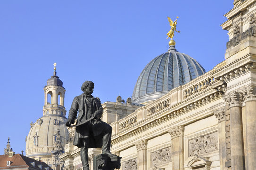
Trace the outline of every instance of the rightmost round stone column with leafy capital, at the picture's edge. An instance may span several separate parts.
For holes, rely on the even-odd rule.
[[[242,90],[245,101],[246,170],[256,168],[256,88],[252,85]]]

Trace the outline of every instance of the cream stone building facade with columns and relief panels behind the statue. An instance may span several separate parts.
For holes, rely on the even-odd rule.
[[[112,153],[122,157],[120,170],[256,169],[256,0],[234,0],[225,16],[225,60],[212,70],[167,93],[144,93],[147,100],[132,99],[137,104],[103,103],[102,119],[113,127]],[[60,158],[66,170],[77,170],[80,150],[72,145],[74,129],[68,130]],[[89,150],[89,160],[99,153]]]

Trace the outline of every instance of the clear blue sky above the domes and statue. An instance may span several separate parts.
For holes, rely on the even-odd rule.
[[[233,0],[1,0],[0,154],[8,137],[16,153],[25,151],[54,62],[67,112],[85,80],[102,103],[126,100],[146,64],[168,50],[167,16],[179,16],[177,51],[209,71],[224,60],[220,25],[232,8]]]

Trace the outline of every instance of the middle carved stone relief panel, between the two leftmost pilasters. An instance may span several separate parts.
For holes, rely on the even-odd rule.
[[[171,162],[171,147],[150,153],[151,167]]]

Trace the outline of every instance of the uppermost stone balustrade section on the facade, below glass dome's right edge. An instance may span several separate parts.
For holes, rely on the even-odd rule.
[[[213,76],[210,76],[210,77],[206,78],[205,80],[200,81],[200,82],[196,83],[195,85],[190,86],[189,88],[187,88],[186,90],[183,91],[184,99],[195,94],[195,93],[203,91],[204,89],[209,87],[210,83],[212,83],[212,82],[213,82]]]

